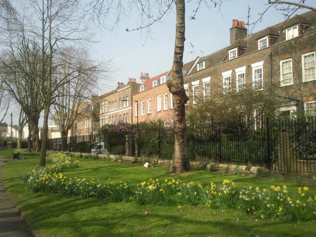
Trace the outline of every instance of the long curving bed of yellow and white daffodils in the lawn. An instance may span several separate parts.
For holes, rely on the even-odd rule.
[[[32,170],[23,178],[23,184],[31,192],[61,193],[69,196],[97,197],[118,202],[138,204],[204,205],[210,208],[236,208],[261,218],[283,220],[316,219],[316,195],[307,186],[298,187],[297,193],[289,194],[286,186],[271,185],[267,188],[249,186],[238,188],[232,180],[220,184],[211,182],[203,187],[200,183],[183,183],[180,179],[149,179],[141,183],[106,183],[85,178],[63,175],[66,169],[76,168],[79,161],[65,154],[48,152],[47,161],[52,165]]]

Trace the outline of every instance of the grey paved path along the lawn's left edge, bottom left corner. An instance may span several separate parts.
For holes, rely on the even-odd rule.
[[[1,175],[1,167],[5,164],[3,160],[0,157],[0,237],[33,237],[16,204],[4,189]]]

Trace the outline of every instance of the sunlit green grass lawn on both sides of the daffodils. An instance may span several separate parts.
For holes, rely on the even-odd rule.
[[[0,157],[12,157],[0,152]],[[210,182],[232,179],[240,187],[287,185],[289,192],[297,192],[298,185],[275,179],[238,177],[232,174],[202,170],[181,175],[168,174],[168,167],[146,169],[141,164],[114,163],[79,159],[80,167],[65,171],[68,177],[98,179],[102,182],[143,182],[150,178],[194,181],[203,187]],[[312,237],[316,235],[316,220],[284,223],[260,219],[238,210],[214,209],[205,206],[136,205],[101,201],[96,198],[64,197],[58,194],[28,193],[20,185],[21,177],[36,168],[39,156],[25,156],[23,160],[6,163],[2,168],[3,181],[32,228],[40,237]],[[49,163],[47,163],[49,165]],[[316,194],[313,180],[307,185]]]

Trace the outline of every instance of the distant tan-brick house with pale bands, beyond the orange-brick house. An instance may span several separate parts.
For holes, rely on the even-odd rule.
[[[146,78],[149,78],[148,75]],[[132,95],[139,91],[140,84],[129,78],[127,84],[118,82],[118,87],[100,96],[100,126],[118,122],[132,123]]]

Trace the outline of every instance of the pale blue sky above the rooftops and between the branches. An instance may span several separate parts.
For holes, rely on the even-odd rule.
[[[194,60],[197,56],[206,56],[229,46],[232,20],[237,19],[247,23],[248,6],[251,8],[250,23],[257,21],[260,18],[258,13],[264,12],[268,7],[268,0],[224,0],[220,9],[218,7],[208,9],[205,5],[201,5],[196,20],[189,20],[197,7],[196,2],[197,0],[186,0],[184,63]],[[306,4],[316,7],[315,0],[307,0]],[[306,11],[306,9],[299,10],[295,14]],[[155,77],[171,69],[175,40],[175,10],[173,9],[152,26],[152,33],[147,39],[144,31],[126,31],[126,28],[139,27],[138,14],[139,12],[131,12],[128,17],[121,16],[118,27],[114,31],[99,31],[95,39],[92,39],[98,42],[91,48],[91,57],[105,61],[112,59],[111,70],[114,71],[110,74],[110,78],[105,79],[106,82],[101,86],[98,95],[116,89],[118,81],[126,84],[128,78],[136,78],[138,82],[140,73],[149,73],[150,77]],[[249,34],[284,20],[282,12],[270,7],[261,22],[249,27]],[[12,105],[11,111],[14,115],[13,124],[17,124],[18,109]],[[10,114],[6,116],[4,122],[10,124]]]

